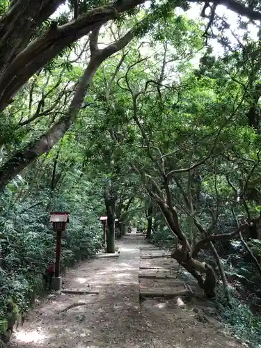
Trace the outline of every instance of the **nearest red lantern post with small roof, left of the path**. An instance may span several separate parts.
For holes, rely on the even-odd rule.
[[[49,222],[53,224],[53,229],[56,232],[56,255],[54,278],[52,279],[53,290],[61,290],[62,280],[60,276],[61,264],[61,248],[62,248],[62,232],[66,229],[66,223],[69,222],[68,212],[52,212]]]

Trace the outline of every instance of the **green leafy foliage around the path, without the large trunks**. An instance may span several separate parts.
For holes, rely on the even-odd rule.
[[[9,3],[0,1],[0,15]],[[74,16],[75,2],[67,3],[56,18],[58,25]],[[79,1],[78,15],[108,3]],[[231,42],[230,26],[217,15],[212,29],[219,29],[219,35],[206,35],[203,22],[176,15],[176,6],[188,9],[187,2],[151,1],[104,26],[105,41],[116,41],[131,26],[135,38],[104,61],[75,120],[68,120],[68,114],[89,60],[88,40],[61,49],[1,113],[1,168],[17,150],[32,155],[28,144],[42,134],[47,145],[56,146],[19,173],[0,197],[0,333],[8,328],[10,301],[12,313],[24,313],[42,290],[41,272],[54,258],[54,235],[48,226],[53,209],[70,211],[63,269],[101,247],[97,217],[105,214],[108,187],[113,213],[126,224],[144,227],[146,202],[152,201],[152,242],[168,248],[182,239],[193,251],[206,237],[229,234],[244,221],[258,220],[260,42],[251,40],[242,20],[239,29],[244,35],[233,33],[236,40]],[[44,36],[51,26],[46,19],[31,39]],[[223,54],[213,54],[206,36],[219,42]],[[70,127],[58,142],[61,136],[53,127],[61,120]],[[19,172],[16,164],[10,169]],[[169,212],[177,218],[174,224]],[[242,238],[260,264],[260,227],[248,227]],[[224,278],[237,279],[229,287],[237,292],[250,288],[258,296],[260,274],[244,243],[237,241],[235,247],[235,240],[224,238],[213,247],[220,257],[212,248],[211,253],[196,255],[198,262],[212,265],[219,260]],[[222,315],[236,333],[257,342],[260,317],[237,292],[232,292],[232,309],[223,294],[218,295]]]

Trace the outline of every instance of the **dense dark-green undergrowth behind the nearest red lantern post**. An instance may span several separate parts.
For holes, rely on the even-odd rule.
[[[69,190],[70,192],[70,190]],[[102,228],[93,202],[70,198],[66,190],[55,198],[48,191],[13,200],[7,191],[1,201],[0,218],[0,335],[15,319],[26,313],[36,294],[43,289],[41,272],[55,258],[55,235],[49,226],[49,212],[55,208],[70,212],[70,223],[63,233],[61,267],[64,271],[100,249]],[[74,194],[77,193],[74,191]],[[53,197],[50,200],[50,197]],[[74,196],[75,198],[75,196]],[[96,206],[97,207],[97,206]],[[10,306],[13,303],[13,306]],[[9,324],[8,324],[9,323]]]

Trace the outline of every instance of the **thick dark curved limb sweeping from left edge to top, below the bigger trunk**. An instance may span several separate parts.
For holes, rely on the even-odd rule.
[[[29,0],[27,0],[28,2]],[[47,0],[46,0],[47,1]],[[45,2],[46,2],[45,1]],[[38,3],[40,1],[37,1]],[[41,1],[42,2],[42,1]],[[56,0],[56,3],[61,1]],[[8,106],[17,90],[48,61],[54,58],[65,47],[84,35],[93,31],[97,26],[116,19],[119,13],[135,8],[145,0],[117,1],[107,6],[94,8],[71,22],[62,26],[51,25],[44,35],[35,39],[6,65],[9,58],[0,55],[0,66],[6,67],[0,78],[0,110]],[[22,29],[19,31],[21,35]],[[0,22],[1,32],[1,22]],[[0,35],[1,36],[1,35]],[[30,38],[27,40],[28,44]],[[9,42],[9,41],[8,41]],[[0,50],[1,51],[1,50]],[[2,51],[1,51],[2,52]]]

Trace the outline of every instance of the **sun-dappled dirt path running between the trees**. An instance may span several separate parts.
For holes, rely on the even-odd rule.
[[[162,251],[152,248],[143,238],[126,236],[118,242],[118,258],[97,258],[69,271],[63,278],[63,289],[100,293],[49,296],[30,313],[11,347],[243,347],[223,333],[219,322],[205,314],[206,310],[213,310],[206,308],[205,303],[180,297],[140,301],[140,291],[184,290],[182,280],[175,279],[175,261],[151,258]],[[169,274],[173,278],[139,279],[144,274]],[[69,308],[74,303],[85,304]]]

